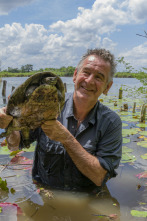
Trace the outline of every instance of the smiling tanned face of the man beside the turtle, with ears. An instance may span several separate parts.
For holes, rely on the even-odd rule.
[[[74,72],[74,96],[95,104],[102,93],[107,94],[113,83],[112,81],[108,83],[110,68],[109,62],[98,56],[87,57],[79,72],[77,73],[77,70]]]

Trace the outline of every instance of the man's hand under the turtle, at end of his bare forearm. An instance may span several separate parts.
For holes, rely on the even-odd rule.
[[[50,120],[44,122],[42,124],[42,130],[44,133],[51,139],[55,141],[59,141],[62,144],[66,139],[68,130],[58,121],[58,120]]]

